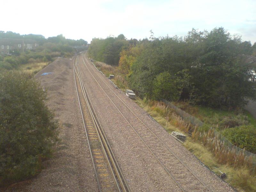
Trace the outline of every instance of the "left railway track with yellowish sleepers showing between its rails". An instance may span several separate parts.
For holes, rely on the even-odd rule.
[[[130,189],[124,179],[116,158],[110,148],[108,140],[98,117],[95,114],[90,98],[87,94],[80,74],[77,56],[74,59],[74,78],[77,97],[84,123],[85,134],[92,158],[93,169],[100,192],[129,192]]]

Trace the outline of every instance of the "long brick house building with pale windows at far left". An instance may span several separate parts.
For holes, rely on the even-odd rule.
[[[4,39],[0,38],[0,55],[12,54],[13,50],[25,51],[35,50],[38,46],[35,40],[31,39]]]

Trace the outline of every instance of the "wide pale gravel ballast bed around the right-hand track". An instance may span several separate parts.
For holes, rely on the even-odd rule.
[[[97,71],[92,64],[86,62],[89,70],[100,85],[97,84],[88,68],[85,67],[82,58],[80,58],[79,63],[87,92],[132,191],[180,191],[177,184],[167,174],[155,156],[151,154],[150,150],[177,178],[182,188],[187,191],[208,191],[164,145],[170,148],[212,191],[234,191],[226,182],[200,164],[198,159],[177,140],[172,138],[161,125],[150,119],[143,109],[126,97],[123,92],[114,88],[109,80]],[[109,87],[103,83],[96,73]],[[156,137],[147,127],[125,107],[110,89],[163,141],[164,145],[159,140],[156,140]],[[148,144],[150,150],[125,119]]]

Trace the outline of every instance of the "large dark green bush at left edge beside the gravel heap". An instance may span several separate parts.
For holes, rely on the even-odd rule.
[[[50,157],[58,123],[45,99],[25,73],[0,72],[0,185],[35,175]]]

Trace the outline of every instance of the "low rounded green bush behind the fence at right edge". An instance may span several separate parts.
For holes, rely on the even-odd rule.
[[[241,125],[225,129],[222,134],[239,148],[256,153],[256,129],[252,125]]]

